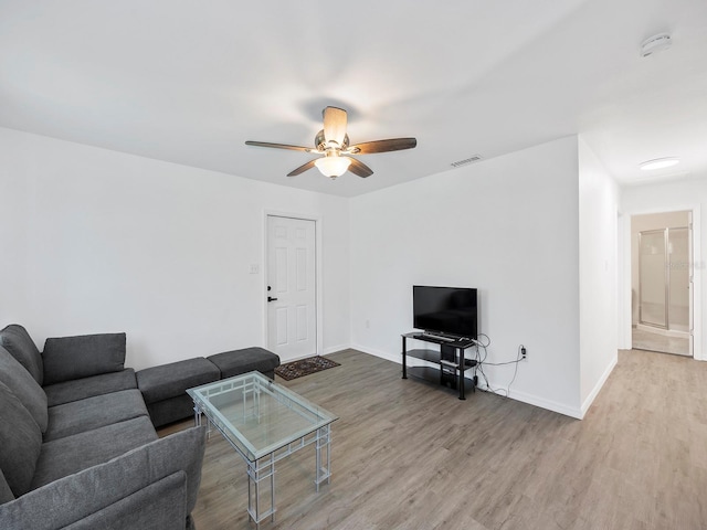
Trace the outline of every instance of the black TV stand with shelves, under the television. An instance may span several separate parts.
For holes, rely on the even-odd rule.
[[[421,340],[440,344],[439,350],[412,349],[408,350],[408,339]],[[408,379],[408,373],[416,379],[423,379],[460,391],[460,400],[465,400],[465,391],[476,390],[476,359],[465,359],[465,351],[474,347],[471,339],[451,339],[422,332],[402,335],[402,379]],[[408,368],[408,357],[422,359],[440,365],[439,369],[430,367]],[[469,379],[465,372],[474,369]]]

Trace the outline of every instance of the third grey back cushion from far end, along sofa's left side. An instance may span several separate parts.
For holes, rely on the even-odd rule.
[[[0,469],[15,497],[30,489],[42,447],[42,433],[12,391],[0,382]]]

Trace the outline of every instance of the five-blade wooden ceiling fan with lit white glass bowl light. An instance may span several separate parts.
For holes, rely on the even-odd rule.
[[[331,179],[342,176],[347,170],[363,178],[373,174],[371,168],[348,155],[400,151],[402,149],[412,149],[418,145],[415,138],[390,138],[388,140],[365,141],[351,146],[349,145],[349,136],[346,134],[346,110],[338,107],[326,107],[321,114],[324,116],[324,128],[317,132],[314,139],[315,147],[288,146],[286,144],[251,140],[246,141],[245,145],[323,155],[320,158],[315,158],[293,169],[287,173],[287,177],[304,173],[316,166],[323,174]]]

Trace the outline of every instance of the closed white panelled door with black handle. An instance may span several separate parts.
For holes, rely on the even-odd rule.
[[[267,216],[267,348],[283,361],[317,354],[316,223]]]

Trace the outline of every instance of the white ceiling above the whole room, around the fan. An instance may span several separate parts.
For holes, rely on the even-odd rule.
[[[572,134],[623,183],[704,177],[706,52],[705,0],[0,0],[0,126],[345,197]],[[418,147],[330,181],[244,145],[312,146],[326,105]]]

